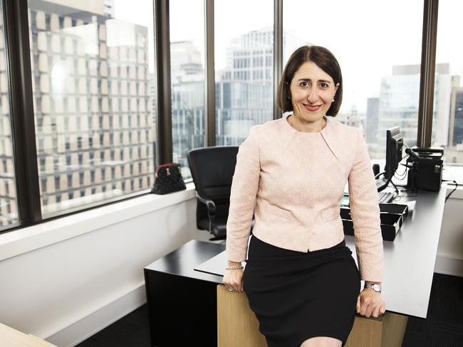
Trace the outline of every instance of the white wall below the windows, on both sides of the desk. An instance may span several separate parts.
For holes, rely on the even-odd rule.
[[[0,322],[60,347],[83,341],[145,302],[146,265],[192,238],[208,239],[195,228],[195,208],[189,194],[165,208],[1,260]],[[462,211],[459,191],[445,205],[436,272],[463,276]]]

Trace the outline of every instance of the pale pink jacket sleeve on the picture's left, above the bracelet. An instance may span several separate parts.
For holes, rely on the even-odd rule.
[[[233,262],[246,260],[251,220],[256,205],[261,171],[257,127],[251,127],[249,137],[239,146],[231,183],[227,256]]]

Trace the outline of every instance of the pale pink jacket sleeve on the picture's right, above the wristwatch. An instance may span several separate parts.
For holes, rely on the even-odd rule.
[[[363,134],[358,129],[355,161],[348,177],[350,215],[360,279],[383,281],[383,236],[375,176]]]

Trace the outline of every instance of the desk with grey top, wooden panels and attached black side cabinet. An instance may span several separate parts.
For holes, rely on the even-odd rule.
[[[415,200],[416,205],[395,241],[383,243],[386,314],[378,319],[356,315],[347,346],[401,346],[407,316],[426,318],[444,212],[444,187],[439,192],[420,192],[398,202]],[[345,235],[345,243],[357,261],[354,237]],[[218,308],[219,346],[254,347],[246,343],[236,345],[228,340],[230,336],[240,338],[242,333],[249,331],[239,324],[246,321],[245,326],[254,326],[255,316],[244,300],[244,293],[221,292],[221,286],[217,288],[217,284],[222,284],[223,269],[227,266],[223,251],[224,245],[190,241],[145,267],[153,346],[184,343],[179,335],[187,336],[189,343],[199,341],[201,346],[217,346],[217,316],[214,310]],[[217,275],[194,271],[194,267],[214,256],[217,256],[214,260],[217,271],[213,273]],[[219,300],[218,306],[216,300]],[[243,306],[243,302],[246,305]],[[182,334],[178,333],[180,326]],[[222,335],[224,327],[228,332]],[[254,329],[252,333],[256,334],[253,338],[260,341],[259,331]],[[245,338],[242,341],[251,340]]]

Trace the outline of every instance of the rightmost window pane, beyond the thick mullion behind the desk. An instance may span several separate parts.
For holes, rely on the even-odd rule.
[[[432,119],[432,145],[444,146],[445,161],[463,164],[463,48],[454,40],[461,28],[458,1],[439,1]]]

